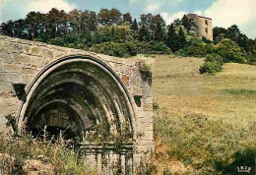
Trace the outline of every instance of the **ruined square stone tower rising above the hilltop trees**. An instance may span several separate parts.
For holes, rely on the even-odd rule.
[[[198,37],[205,37],[213,41],[212,19],[198,16],[197,14],[188,14],[187,18],[193,22],[194,27],[192,27],[192,30],[197,33]]]

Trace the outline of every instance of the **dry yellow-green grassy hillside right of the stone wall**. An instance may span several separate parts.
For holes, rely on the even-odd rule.
[[[199,74],[202,58],[155,61],[157,170],[236,173],[237,158],[250,164],[244,159],[255,154],[256,67],[228,63],[213,77]]]

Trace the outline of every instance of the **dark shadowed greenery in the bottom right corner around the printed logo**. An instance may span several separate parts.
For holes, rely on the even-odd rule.
[[[244,151],[237,151],[233,155],[233,161],[228,162],[216,162],[215,169],[226,175],[235,175],[241,174],[238,172],[238,167],[240,170],[250,170],[250,172],[244,172],[243,174],[252,174],[256,173],[255,162],[256,161],[256,149],[246,148]],[[241,167],[243,166],[243,167]]]

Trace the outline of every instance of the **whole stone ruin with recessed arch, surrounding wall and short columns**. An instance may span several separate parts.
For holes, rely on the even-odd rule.
[[[14,89],[20,83],[26,100]],[[27,118],[35,133],[46,124],[53,134],[70,129],[66,137],[83,141],[85,161],[98,172],[110,172],[114,162],[134,171],[155,147],[152,108],[151,86],[138,60],[0,35],[0,132],[8,114],[20,116],[20,127]],[[128,131],[122,139],[129,142],[118,152],[109,142],[102,152],[87,143],[100,127],[108,133],[98,132],[101,138]]]

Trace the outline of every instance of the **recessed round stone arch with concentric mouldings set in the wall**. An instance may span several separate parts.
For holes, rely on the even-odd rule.
[[[132,100],[103,61],[92,55],[69,55],[50,63],[32,81],[20,106],[18,125],[22,128],[25,118],[30,130],[44,124],[60,128],[74,124],[77,131],[71,133],[77,132],[80,139],[96,124],[107,123],[109,132],[115,133],[125,125],[136,139]]]

